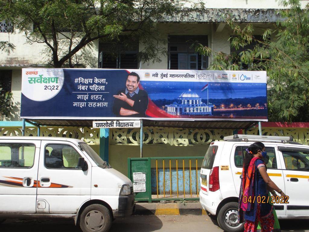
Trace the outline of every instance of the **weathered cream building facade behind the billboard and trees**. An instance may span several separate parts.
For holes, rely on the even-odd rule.
[[[301,1],[305,6],[309,1]],[[189,3],[188,3],[189,4]],[[137,53],[144,47],[142,42],[134,43],[129,50],[119,52],[112,58],[106,44],[94,41],[93,49],[88,51],[92,59],[92,67],[120,69],[207,69],[212,57],[197,54],[189,41],[199,41],[214,51],[229,54],[232,49],[229,38],[234,34],[224,22],[224,15],[231,14],[240,25],[253,24],[254,34],[261,35],[265,29],[274,28],[279,19],[277,10],[283,8],[276,0],[232,0],[218,2],[205,1],[204,13],[180,15],[175,19],[166,19],[157,23],[157,29],[165,43],[159,46],[166,51],[161,54],[161,62],[143,63],[138,60]],[[5,120],[19,121],[21,96],[21,69],[24,67],[44,67],[42,51],[44,44],[27,43],[23,33],[19,33],[9,22],[0,23],[0,41],[10,41],[16,46],[14,52],[7,55],[0,52],[0,80],[10,80],[8,91],[13,92],[14,110],[10,118]],[[86,51],[87,52],[87,51]],[[241,50],[236,51],[240,53]],[[243,67],[246,69],[247,67]]]

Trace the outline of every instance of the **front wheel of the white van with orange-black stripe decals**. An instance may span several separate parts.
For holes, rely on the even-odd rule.
[[[83,232],[107,232],[112,226],[111,212],[104,205],[91,204],[80,215],[79,226]]]

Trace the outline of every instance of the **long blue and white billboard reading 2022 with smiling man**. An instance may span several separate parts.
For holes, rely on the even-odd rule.
[[[265,71],[22,71],[21,118],[267,121]]]

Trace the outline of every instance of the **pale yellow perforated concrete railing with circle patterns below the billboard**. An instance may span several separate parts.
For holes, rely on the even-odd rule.
[[[139,129],[110,129],[109,143],[112,145],[138,145]],[[244,131],[243,131],[244,132]],[[309,128],[264,127],[263,135],[292,136],[294,141],[309,144]],[[144,144],[166,144],[172,146],[208,145],[212,141],[222,140],[232,135],[232,130],[181,129],[171,127],[144,127]],[[248,131],[258,135],[258,129]],[[22,135],[21,127],[1,127],[0,135]],[[36,127],[26,127],[26,136],[37,136]],[[41,136],[67,137],[83,139],[88,144],[99,144],[99,129],[89,127],[41,127]]]

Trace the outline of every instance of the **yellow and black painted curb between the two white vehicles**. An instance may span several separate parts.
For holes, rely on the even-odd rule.
[[[206,215],[199,202],[181,203],[136,203],[133,215]]]

